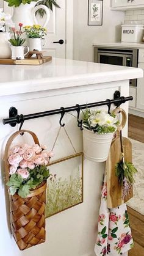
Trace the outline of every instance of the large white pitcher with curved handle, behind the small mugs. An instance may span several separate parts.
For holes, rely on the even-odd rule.
[[[44,9],[46,12],[46,20],[43,24],[43,27],[46,27],[50,18],[50,12],[48,7],[43,4],[35,6],[38,2],[41,2],[41,0],[37,2],[32,1],[30,4],[20,4],[19,7],[13,7],[12,20],[16,29],[20,29],[18,26],[19,23],[23,23],[23,26],[32,26],[34,24],[38,24],[37,18],[35,17],[35,12],[37,12],[39,9]]]

